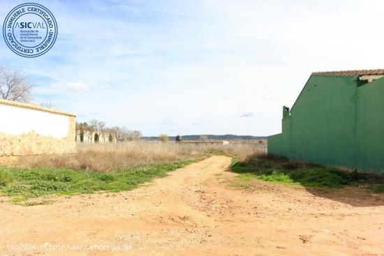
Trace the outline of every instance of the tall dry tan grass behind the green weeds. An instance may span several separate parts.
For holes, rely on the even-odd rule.
[[[73,170],[112,172],[139,165],[173,163],[177,160],[207,156],[211,152],[224,152],[244,160],[252,153],[263,151],[256,142],[233,142],[226,146],[179,144],[174,142],[121,142],[106,144],[78,144],[73,156],[36,156],[22,158],[20,167],[67,167]]]

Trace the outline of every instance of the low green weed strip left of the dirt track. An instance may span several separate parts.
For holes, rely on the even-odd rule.
[[[163,177],[167,172],[192,163],[183,160],[177,163],[134,167],[119,172],[87,172],[68,168],[0,168],[0,193],[17,196],[14,202],[26,197],[75,193],[94,193],[98,190],[118,192],[137,188],[139,184]],[[34,204],[34,203],[31,203]],[[40,203],[39,203],[40,204]]]

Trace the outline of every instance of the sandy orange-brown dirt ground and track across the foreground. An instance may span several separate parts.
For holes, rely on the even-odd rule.
[[[3,197],[0,255],[384,255],[383,195],[233,188],[228,165],[213,156],[136,190],[47,205]]]

